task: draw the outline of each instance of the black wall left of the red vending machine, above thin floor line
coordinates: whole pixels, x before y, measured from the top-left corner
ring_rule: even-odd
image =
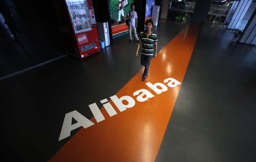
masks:
[[[0,77],[65,55],[49,2],[40,2],[0,1],[0,35],[9,40],[1,42]]]

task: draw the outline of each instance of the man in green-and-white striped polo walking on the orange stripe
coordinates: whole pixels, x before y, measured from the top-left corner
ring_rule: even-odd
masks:
[[[157,53],[157,35],[153,33],[151,30],[154,23],[151,19],[148,19],[145,22],[146,30],[144,32],[140,32],[139,35],[139,42],[137,45],[137,51],[136,56],[138,56],[138,50],[140,49],[140,43],[142,42],[142,48],[141,48],[141,57],[140,57],[140,64],[145,67],[144,73],[142,75],[142,81],[146,80],[146,77],[148,75],[148,68],[151,61],[152,56],[156,58]],[[155,47],[155,53],[154,53],[154,47]],[[153,54],[154,53],[154,54]]]

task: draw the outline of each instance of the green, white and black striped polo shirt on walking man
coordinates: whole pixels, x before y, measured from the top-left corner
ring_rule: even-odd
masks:
[[[142,41],[141,55],[153,56],[153,46],[154,42],[157,42],[157,36],[152,31],[152,34],[147,38],[145,32],[146,30],[144,32],[140,32],[139,35],[139,39]]]

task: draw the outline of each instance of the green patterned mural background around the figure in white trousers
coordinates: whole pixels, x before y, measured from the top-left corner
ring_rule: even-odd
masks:
[[[118,13],[119,13],[118,2],[119,0],[110,0],[110,6],[109,6],[110,15],[112,16],[112,19],[116,19],[116,20],[118,20]],[[131,4],[133,3],[133,0],[122,0],[121,3],[123,4],[123,11],[124,11],[124,15],[120,16],[122,21],[123,16],[126,16],[127,13],[131,10]]]

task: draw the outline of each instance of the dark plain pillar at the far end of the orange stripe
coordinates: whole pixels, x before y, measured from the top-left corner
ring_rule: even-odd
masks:
[[[192,20],[204,22],[209,12],[212,0],[197,0]]]

